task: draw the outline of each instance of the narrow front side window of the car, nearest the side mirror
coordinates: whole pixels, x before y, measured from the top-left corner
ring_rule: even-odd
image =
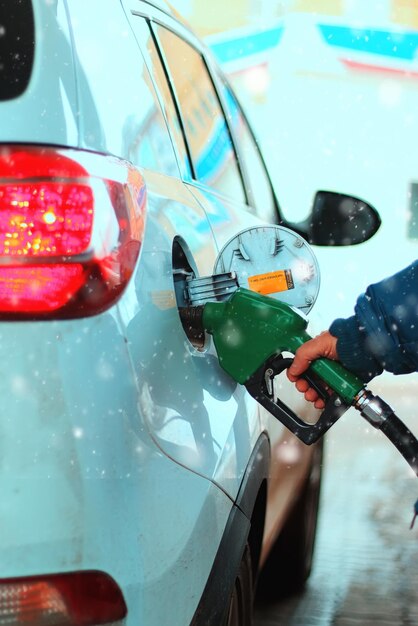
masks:
[[[251,188],[250,198],[255,214],[267,222],[278,222],[277,205],[269,176],[258,145],[229,85],[221,78],[230,127],[236,133],[240,157]]]

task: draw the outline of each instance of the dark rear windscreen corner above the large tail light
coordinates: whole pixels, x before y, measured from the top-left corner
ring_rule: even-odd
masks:
[[[7,7],[6,7],[7,5]],[[20,96],[28,86],[35,53],[31,0],[0,6],[0,100]]]

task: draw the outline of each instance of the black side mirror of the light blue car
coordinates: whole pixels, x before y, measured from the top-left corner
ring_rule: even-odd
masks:
[[[305,227],[309,243],[350,246],[370,239],[380,224],[378,212],[364,200],[333,191],[318,191]]]

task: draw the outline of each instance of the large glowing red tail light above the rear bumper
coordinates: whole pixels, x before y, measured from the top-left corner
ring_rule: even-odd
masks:
[[[111,306],[144,227],[139,172],[78,150],[0,149],[0,317],[68,318]]]

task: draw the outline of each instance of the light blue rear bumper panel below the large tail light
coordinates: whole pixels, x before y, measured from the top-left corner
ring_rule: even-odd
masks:
[[[0,576],[99,569],[127,591],[133,620],[188,623],[232,501],[155,446],[117,311],[3,324],[2,353]],[[185,563],[195,587],[174,606]]]

